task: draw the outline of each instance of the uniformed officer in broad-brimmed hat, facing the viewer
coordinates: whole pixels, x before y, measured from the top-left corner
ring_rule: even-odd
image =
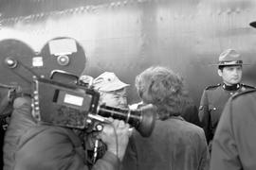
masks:
[[[254,87],[240,83],[244,63],[237,51],[225,50],[220,54],[219,62],[213,65],[218,65],[218,75],[222,77],[223,82],[204,90],[198,113],[210,148],[219,118],[229,97],[234,93],[254,89]]]

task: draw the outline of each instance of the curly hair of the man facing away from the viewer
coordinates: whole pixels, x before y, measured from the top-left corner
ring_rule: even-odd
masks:
[[[143,102],[156,106],[161,120],[180,115],[190,103],[183,78],[166,67],[153,66],[140,73],[136,88]]]

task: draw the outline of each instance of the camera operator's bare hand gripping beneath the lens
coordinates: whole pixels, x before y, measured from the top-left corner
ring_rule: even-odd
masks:
[[[117,155],[121,161],[131,135],[131,130],[129,130],[129,124],[125,124],[123,121],[112,118],[108,120],[112,123],[104,125],[100,138],[107,144],[107,150]]]

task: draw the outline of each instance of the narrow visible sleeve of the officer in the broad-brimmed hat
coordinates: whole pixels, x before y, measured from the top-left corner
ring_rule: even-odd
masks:
[[[203,92],[201,97],[198,117],[205,131],[207,143],[210,143],[210,140],[212,139],[213,135],[210,130],[210,110],[209,110],[208,93],[206,90]]]

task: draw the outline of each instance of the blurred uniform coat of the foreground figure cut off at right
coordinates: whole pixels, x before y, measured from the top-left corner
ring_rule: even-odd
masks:
[[[210,170],[256,169],[256,91],[231,97],[212,141]]]

